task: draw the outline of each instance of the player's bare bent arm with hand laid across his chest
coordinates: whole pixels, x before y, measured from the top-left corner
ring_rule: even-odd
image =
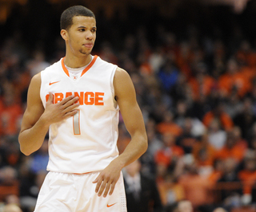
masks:
[[[78,103],[78,97],[69,96],[66,99],[53,104],[53,96],[50,93],[49,100],[46,102],[46,108],[42,105],[40,98],[41,73],[35,75],[27,93],[27,107],[22,118],[21,131],[18,135],[20,149],[24,155],[30,155],[37,151],[45,139],[50,124],[65,120],[74,116],[77,112],[75,108]]]

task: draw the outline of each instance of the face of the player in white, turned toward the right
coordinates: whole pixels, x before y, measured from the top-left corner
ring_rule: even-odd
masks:
[[[68,45],[74,54],[89,55],[96,39],[96,20],[92,17],[75,16],[68,29]]]

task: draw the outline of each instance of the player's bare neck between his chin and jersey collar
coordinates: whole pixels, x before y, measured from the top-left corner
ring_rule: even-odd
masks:
[[[86,55],[84,57],[70,57],[69,55],[66,55],[64,58],[64,64],[70,68],[78,69],[88,65],[91,61],[91,58],[91,55]]]

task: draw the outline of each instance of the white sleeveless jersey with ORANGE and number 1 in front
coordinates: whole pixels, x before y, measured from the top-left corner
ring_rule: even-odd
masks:
[[[40,96],[46,107],[49,92],[54,104],[67,96],[79,96],[78,113],[50,125],[48,171],[86,173],[101,171],[118,156],[118,104],[113,79],[117,65],[94,56],[74,80],[64,58],[41,72]]]

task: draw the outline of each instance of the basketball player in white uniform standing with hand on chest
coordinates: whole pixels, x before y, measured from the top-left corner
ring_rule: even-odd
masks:
[[[72,6],[61,16],[66,57],[35,75],[19,134],[30,155],[49,131],[49,171],[35,212],[126,211],[122,168],[147,148],[134,85],[125,70],[90,53],[96,38],[94,13]],[[118,155],[118,112],[130,132]]]

